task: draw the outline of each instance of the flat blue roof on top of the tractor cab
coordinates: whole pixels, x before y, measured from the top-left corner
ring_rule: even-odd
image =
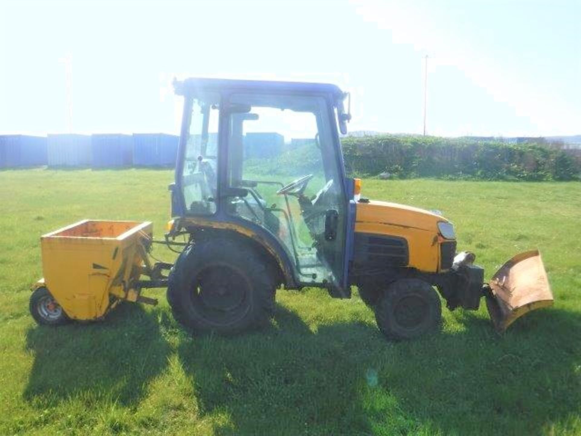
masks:
[[[242,92],[297,92],[304,94],[332,94],[342,98],[343,91],[330,83],[289,82],[274,80],[233,80],[228,78],[191,77],[174,80],[175,94],[187,95],[195,91],[235,90]]]

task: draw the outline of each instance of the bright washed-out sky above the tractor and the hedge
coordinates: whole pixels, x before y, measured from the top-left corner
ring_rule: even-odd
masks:
[[[579,0],[0,0],[0,133],[176,133],[174,76],[336,83],[350,130],[421,133],[427,54],[428,134],[579,134],[580,23]]]

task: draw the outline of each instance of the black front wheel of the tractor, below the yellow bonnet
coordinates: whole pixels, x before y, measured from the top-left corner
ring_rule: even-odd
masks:
[[[417,338],[435,331],[442,319],[442,304],[429,283],[415,278],[394,281],[375,306],[379,330],[393,340]]]

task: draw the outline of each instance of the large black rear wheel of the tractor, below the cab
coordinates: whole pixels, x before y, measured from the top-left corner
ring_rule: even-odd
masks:
[[[167,288],[175,319],[194,333],[236,334],[266,323],[276,290],[267,265],[240,240],[213,238],[188,246]]]

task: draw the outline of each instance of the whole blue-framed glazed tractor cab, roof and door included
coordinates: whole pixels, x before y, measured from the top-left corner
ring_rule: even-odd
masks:
[[[339,88],[191,79],[177,91],[185,110],[173,216],[260,238],[297,285],[348,288],[353,180],[338,140]]]

